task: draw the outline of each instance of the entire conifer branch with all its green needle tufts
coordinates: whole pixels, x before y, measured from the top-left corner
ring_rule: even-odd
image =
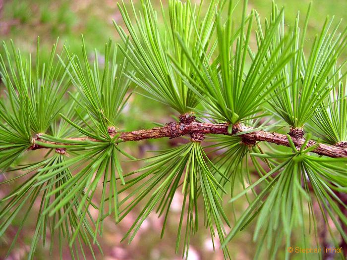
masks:
[[[303,27],[299,13],[287,27],[275,3],[264,22],[256,10],[247,11],[246,0],[169,0],[168,10],[161,3],[158,11],[150,0],[140,4],[140,10],[132,1],[129,8],[118,4],[120,43],[109,40],[103,56],[95,50],[91,57],[83,36],[81,56],[67,46],[57,54],[57,42],[45,64],[39,40],[33,64],[12,42],[3,44],[0,173],[10,177],[0,185],[11,190],[0,198],[0,237],[20,221],[8,253],[32,215],[28,259],[35,259],[40,242],[50,254],[57,248],[60,259],[66,245],[72,259],[97,259],[104,220],[112,216],[118,224],[136,208],[122,240],[130,243],[152,213],[164,219],[163,237],[178,193],[175,252],[184,259],[202,228],[214,249],[231,259],[232,239],[248,226],[258,243],[255,259],[289,259],[286,249],[294,243],[322,246],[318,215],[334,246],[345,245],[343,21],[327,18],[309,44],[311,5]],[[176,111],[176,121],[119,129],[136,87],[136,94]],[[185,144],[147,158],[119,147],[181,136],[189,136]],[[25,162],[23,155],[35,150],[47,153]],[[142,166],[123,173],[126,158]],[[239,212],[234,206],[242,199]]]

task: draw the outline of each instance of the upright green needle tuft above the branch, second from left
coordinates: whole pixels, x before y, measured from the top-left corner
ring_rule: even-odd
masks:
[[[89,119],[95,125],[95,128],[90,127],[90,130],[95,132],[96,135],[102,135],[107,139],[109,138],[108,127],[116,126],[119,113],[130,97],[128,95],[125,99],[130,85],[129,80],[124,76],[124,72],[128,71],[128,62],[123,57],[119,64],[116,63],[117,49],[114,47],[112,52],[112,42],[110,40],[105,45],[103,61],[105,65],[103,73],[100,74],[97,51],[95,50],[93,65],[90,66],[84,39],[82,39],[82,42],[84,68],[79,58],[71,56],[65,48],[71,63],[72,83],[79,93],[78,98],[74,100],[89,115]],[[90,137],[96,136],[90,135]],[[98,138],[96,137],[96,139]]]

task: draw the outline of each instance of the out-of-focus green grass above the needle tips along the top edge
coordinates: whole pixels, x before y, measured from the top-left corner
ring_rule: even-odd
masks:
[[[4,2],[1,11],[0,38],[13,39],[22,51],[34,52],[37,36],[41,37],[43,46],[51,46],[57,37],[60,37],[61,43],[67,41],[71,51],[78,52],[81,45],[80,35],[84,34],[87,43],[102,51],[109,37],[117,38],[112,24],[112,19],[117,22],[121,20],[116,2],[116,0],[8,0]],[[139,0],[134,2],[139,6]],[[153,2],[158,2],[159,10],[159,1]],[[255,8],[264,19],[270,13],[271,2],[272,0],[249,0],[248,8],[249,10]],[[301,20],[304,19],[309,2],[309,0],[276,1],[279,6],[285,7],[289,27],[293,24],[298,10],[302,15]],[[239,20],[240,13],[235,12],[235,21]],[[307,32],[308,41],[313,40],[315,34],[319,32],[326,15],[330,17],[335,15],[336,21],[341,18],[346,19],[347,1],[313,0]]]

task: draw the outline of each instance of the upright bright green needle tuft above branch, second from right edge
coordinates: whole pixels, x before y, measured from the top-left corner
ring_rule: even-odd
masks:
[[[274,112],[285,120],[289,126],[302,128],[314,115],[319,107],[323,109],[322,102],[329,93],[339,84],[342,75],[339,75],[341,67],[337,65],[347,44],[347,27],[341,34],[335,37],[341,21],[332,27],[333,19],[326,19],[322,31],[314,38],[311,51],[306,58],[303,48],[305,47],[305,35],[308,25],[310,6],[307,11],[305,25],[300,33],[299,14],[297,14],[294,28],[291,33],[290,51],[295,52],[291,60],[283,67],[279,76],[283,79],[282,84],[274,89],[273,99],[269,104]],[[276,5],[273,5],[273,11],[270,21],[275,21],[279,13]],[[267,26],[268,27],[268,26]],[[266,27],[266,30],[268,30]],[[258,23],[259,31],[261,26]],[[282,19],[272,38],[272,48],[270,53],[277,52],[281,39],[285,37],[285,21]],[[262,33],[257,37],[258,45],[266,39]],[[287,53],[288,50],[281,48],[281,53]],[[267,57],[271,58],[270,54]],[[276,84],[273,82],[272,84]]]

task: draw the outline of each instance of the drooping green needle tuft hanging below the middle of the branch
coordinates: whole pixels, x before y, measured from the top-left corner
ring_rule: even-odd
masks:
[[[181,241],[182,223],[185,215],[186,227],[185,232],[183,232],[183,257],[187,256],[191,234],[196,233],[198,230],[199,219],[201,219],[198,209],[199,197],[202,197],[204,202],[204,222],[210,228],[212,240],[216,235],[214,229],[214,226],[216,226],[219,239],[223,241],[226,234],[223,224],[224,222],[229,226],[230,224],[223,211],[221,205],[222,197],[217,189],[222,190],[223,193],[226,193],[226,191],[212,174],[212,171],[217,171],[215,175],[227,181],[228,179],[208,159],[201,144],[190,142],[177,148],[162,151],[159,155],[147,158],[145,161],[149,163],[147,166],[128,175],[131,176],[136,172],[144,171],[144,173],[126,181],[126,186],[122,191],[128,190],[135,185],[138,187],[135,192],[130,193],[120,202],[120,204],[126,205],[122,210],[123,215],[121,218],[139,204],[146,195],[152,194],[124,239],[130,234],[130,241],[134,238],[142,222],[156,206],[159,215],[165,214],[162,229],[163,236],[173,196],[177,190],[181,190],[183,204],[177,231],[176,253]],[[188,205],[186,206],[186,204]],[[226,248],[224,249],[224,255],[226,258],[230,257]]]

